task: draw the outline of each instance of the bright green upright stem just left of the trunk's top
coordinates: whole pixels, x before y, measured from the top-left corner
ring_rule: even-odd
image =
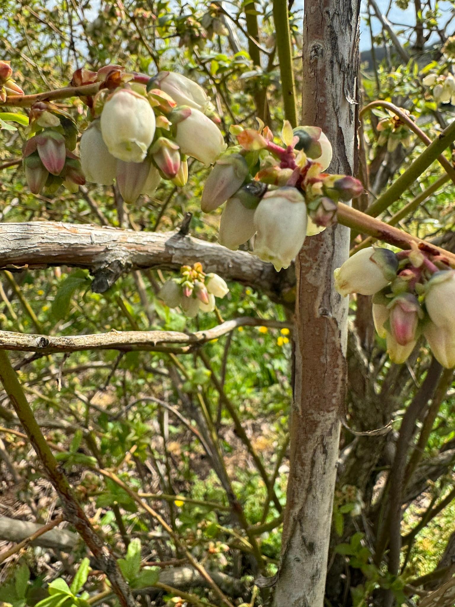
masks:
[[[292,66],[291,31],[289,30],[287,0],[273,0],[275,36],[277,38],[278,59],[280,61],[281,89],[285,118],[292,128],[297,126],[297,109],[295,106],[294,69]]]

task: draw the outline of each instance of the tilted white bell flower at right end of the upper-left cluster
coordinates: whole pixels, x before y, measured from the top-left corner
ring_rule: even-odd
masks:
[[[227,147],[223,135],[202,112],[194,108],[190,108],[190,112],[187,118],[177,123],[175,141],[182,154],[192,156],[203,164],[213,164]]]

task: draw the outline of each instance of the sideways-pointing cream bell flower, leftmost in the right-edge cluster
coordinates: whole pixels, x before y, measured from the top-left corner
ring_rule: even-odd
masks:
[[[357,251],[334,271],[335,289],[342,296],[374,295],[396,277],[397,269],[398,259],[393,251],[369,246]]]

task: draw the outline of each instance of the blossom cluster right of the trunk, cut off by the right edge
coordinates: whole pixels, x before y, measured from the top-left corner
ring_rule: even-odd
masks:
[[[455,366],[455,270],[443,256],[413,248],[360,249],[335,270],[343,295],[372,295],[376,331],[401,364],[423,334],[443,367]]]

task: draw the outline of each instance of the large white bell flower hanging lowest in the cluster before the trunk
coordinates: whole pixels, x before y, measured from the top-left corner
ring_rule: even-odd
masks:
[[[277,272],[288,268],[306,236],[305,198],[296,188],[266,192],[254,213],[255,256],[273,263]]]

